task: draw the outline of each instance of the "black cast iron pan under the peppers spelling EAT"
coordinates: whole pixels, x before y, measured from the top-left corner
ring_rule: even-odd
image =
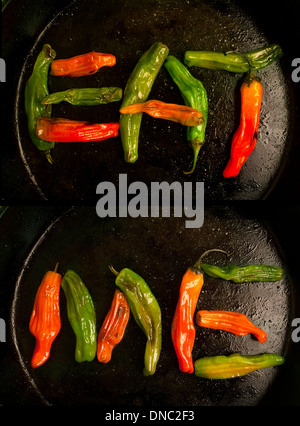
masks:
[[[185,140],[185,129],[177,124],[144,116],[140,133],[139,159],[126,164],[120,137],[101,143],[59,145],[53,153],[50,166],[32,145],[24,111],[24,87],[37,54],[44,43],[56,51],[57,58],[70,57],[91,50],[111,52],[117,57],[113,68],[102,69],[93,76],[81,78],[49,78],[50,91],[70,87],[97,87],[114,85],[125,87],[127,79],[141,54],[155,41],[168,45],[170,54],[183,60],[186,50],[248,51],[271,43],[286,48],[282,39],[284,30],[276,35],[261,28],[255,14],[241,2],[230,0],[88,0],[40,2],[24,6],[12,0],[4,11],[3,45],[9,64],[15,72],[11,77],[15,130],[9,134],[13,150],[4,168],[6,188],[11,185],[14,165],[22,162],[24,179],[33,189],[29,199],[94,201],[99,182],[109,180],[118,184],[119,174],[128,175],[128,183],[143,181],[203,181],[208,200],[261,199],[274,188],[281,175],[293,141],[295,106],[287,55],[259,72],[264,87],[259,141],[237,178],[225,180],[222,171],[228,161],[231,139],[239,123],[241,76],[211,70],[191,68],[191,72],[205,85],[209,98],[209,117],[206,143],[193,175],[184,175],[192,163],[192,151]],[[64,6],[66,6],[64,8]],[[261,5],[260,5],[261,7]],[[251,8],[250,8],[251,9]],[[18,28],[9,22],[16,20],[18,10],[21,23]],[[32,18],[29,18],[29,14]],[[254,14],[254,16],[253,16]],[[32,19],[32,21],[31,21]],[[267,21],[263,23],[265,27]],[[11,29],[10,29],[11,28]],[[17,35],[14,35],[14,31]],[[20,37],[25,37],[20,41]],[[18,50],[14,50],[14,45]],[[20,64],[20,69],[16,64]],[[287,66],[289,68],[287,68]],[[149,98],[182,103],[177,87],[167,71],[162,69]],[[71,107],[56,105],[53,116],[91,122],[118,121],[119,104],[99,107]],[[8,121],[10,123],[10,121]],[[16,166],[17,167],[17,166]],[[24,169],[25,167],[25,169]],[[24,185],[24,184],[23,184]],[[26,185],[25,185],[26,186]],[[28,189],[20,189],[21,199]],[[16,191],[16,185],[13,186]],[[11,199],[7,190],[5,199]]]

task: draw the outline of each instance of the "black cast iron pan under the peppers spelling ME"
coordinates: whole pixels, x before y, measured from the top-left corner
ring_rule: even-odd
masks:
[[[39,223],[38,217],[36,223]],[[30,229],[28,233],[30,235]],[[181,277],[187,267],[211,248],[228,251],[230,260],[236,264],[282,266],[284,278],[276,283],[237,285],[205,277],[197,308],[243,312],[266,330],[268,340],[262,345],[250,335],[236,337],[197,327],[194,359],[234,352],[248,355],[273,352],[286,356],[291,318],[295,315],[293,288],[281,248],[263,222],[245,218],[234,209],[218,207],[206,210],[202,228],[185,229],[184,221],[178,218],[100,220],[94,209],[77,207],[52,218],[43,231],[36,233],[15,285],[12,339],[22,373],[39,400],[43,404],[64,406],[258,404],[280,376],[280,368],[224,381],[199,379],[178,369],[170,325]],[[226,259],[222,256],[216,253],[206,260],[223,264]],[[62,274],[71,268],[82,276],[94,300],[97,330],[116,288],[108,265],[116,269],[129,267],[144,277],[156,295],[163,318],[163,345],[155,375],[144,377],[142,374],[145,337],[132,317],[109,364],[102,365],[97,359],[76,363],[75,340],[67,320],[63,292],[60,297],[62,328],[51,356],[42,367],[31,368],[35,340],[28,330],[28,322],[40,281],[56,262]]]

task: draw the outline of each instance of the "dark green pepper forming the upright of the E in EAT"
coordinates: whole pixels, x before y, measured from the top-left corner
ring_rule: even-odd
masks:
[[[56,56],[56,52],[49,44],[44,44],[39,53],[32,74],[25,86],[25,111],[27,114],[28,130],[34,145],[45,153],[46,158],[52,163],[50,151],[54,148],[54,142],[39,139],[36,135],[37,119],[51,117],[52,106],[43,105],[42,100],[49,94],[48,74],[49,68]]]

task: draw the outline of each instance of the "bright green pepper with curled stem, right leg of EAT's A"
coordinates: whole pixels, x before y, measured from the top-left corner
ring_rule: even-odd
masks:
[[[200,80],[191,75],[186,67],[174,56],[169,55],[164,64],[165,68],[178,86],[185,105],[202,112],[204,122],[199,126],[187,128],[187,140],[194,151],[194,161],[192,169],[186,174],[195,170],[200,148],[204,144],[205,129],[208,117],[207,92]]]

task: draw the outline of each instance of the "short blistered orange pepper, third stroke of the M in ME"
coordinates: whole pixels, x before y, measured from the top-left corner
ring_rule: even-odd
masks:
[[[129,320],[130,307],[126,296],[116,290],[111,307],[98,334],[97,358],[107,364],[111,360],[114,347],[121,342]]]

